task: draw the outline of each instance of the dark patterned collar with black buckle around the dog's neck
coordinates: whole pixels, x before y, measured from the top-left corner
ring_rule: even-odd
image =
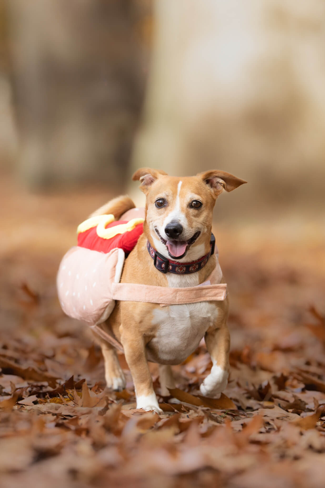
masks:
[[[165,258],[165,256],[156,251],[150,242],[147,241],[147,249],[150,256],[153,258],[153,265],[162,273],[167,273],[167,271],[175,274],[195,273],[208,263],[210,256],[214,254],[214,247],[215,237],[211,234],[210,251],[208,254],[205,254],[205,256],[202,256],[202,258],[197,259],[196,261],[191,261],[191,263],[179,263],[178,261],[172,261],[171,259]]]

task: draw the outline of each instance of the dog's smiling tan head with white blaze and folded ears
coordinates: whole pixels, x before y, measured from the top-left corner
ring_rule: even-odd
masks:
[[[177,178],[141,168],[132,179],[140,180],[146,195],[144,232],[160,254],[176,261],[194,261],[208,252],[216,198],[247,183],[219,170]]]

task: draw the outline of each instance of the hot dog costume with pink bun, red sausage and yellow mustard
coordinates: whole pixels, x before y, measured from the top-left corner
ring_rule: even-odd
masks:
[[[130,218],[132,217],[132,218]],[[97,334],[120,350],[123,347],[112,334],[98,324],[112,313],[115,300],[150,302],[160,306],[225,300],[227,285],[221,284],[222,272],[215,252],[216,266],[208,280],[198,286],[171,288],[165,286],[120,283],[123,264],[143,233],[144,209],[132,209],[115,221],[113,215],[99,215],[82,222],[77,228],[77,246],[63,257],[57,273],[57,294],[62,310],[78,320],[87,322]],[[184,265],[165,259],[149,245],[154,265],[162,272],[184,273]],[[197,269],[205,262],[186,263]],[[179,271],[177,271],[179,269]]]

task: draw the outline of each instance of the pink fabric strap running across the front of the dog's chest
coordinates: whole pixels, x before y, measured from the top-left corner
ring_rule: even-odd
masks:
[[[112,283],[111,293],[112,298],[119,301],[148,302],[162,306],[181,305],[225,300],[227,285],[221,283],[218,285],[169,288],[167,286],[133,283]]]

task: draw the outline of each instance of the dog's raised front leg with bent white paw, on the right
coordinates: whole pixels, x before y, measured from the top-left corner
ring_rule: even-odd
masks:
[[[227,325],[212,329],[205,335],[205,342],[213,366],[210,374],[200,386],[202,395],[219,398],[226,388],[229,377],[230,335]]]

